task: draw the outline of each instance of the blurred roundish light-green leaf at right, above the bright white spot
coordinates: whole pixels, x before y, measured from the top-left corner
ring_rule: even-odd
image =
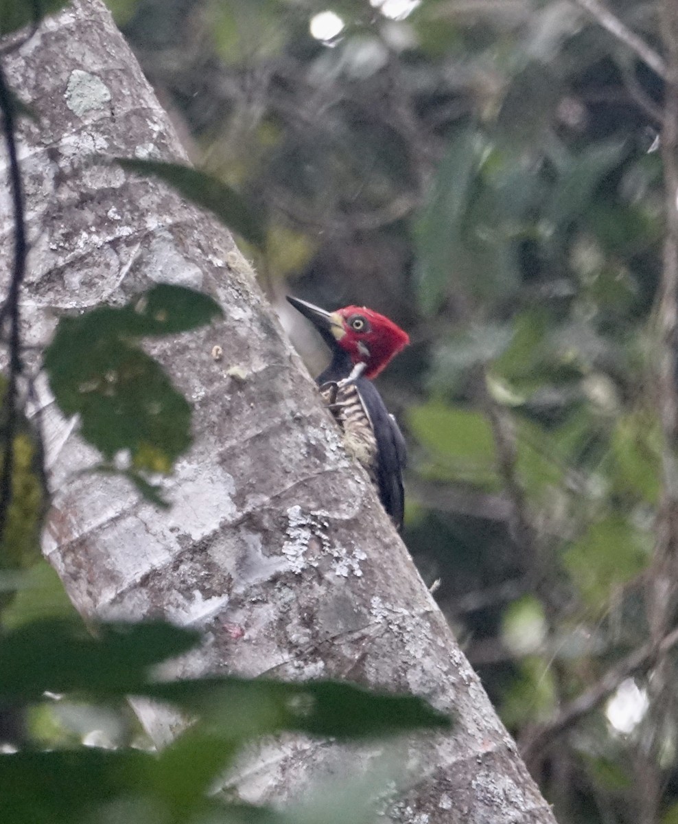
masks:
[[[650,536],[618,513],[591,524],[563,554],[565,569],[587,603],[606,610],[610,591],[643,572],[651,557]]]

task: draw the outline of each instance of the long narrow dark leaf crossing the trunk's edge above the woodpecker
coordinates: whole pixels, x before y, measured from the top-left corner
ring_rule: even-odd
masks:
[[[192,203],[213,213],[245,241],[257,248],[264,246],[264,231],[260,220],[240,194],[216,177],[178,163],[137,160],[131,157],[117,157],[115,162],[127,171],[163,180]]]

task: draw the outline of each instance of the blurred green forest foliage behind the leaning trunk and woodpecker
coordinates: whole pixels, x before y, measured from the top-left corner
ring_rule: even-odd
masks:
[[[664,87],[584,5],[110,2],[193,161],[257,216],[243,248],[311,369],[286,293],[409,331],[379,378],[404,538],[559,822],[675,824],[676,616],[660,640],[648,618]],[[607,8],[662,52],[656,2]],[[106,713],[31,734],[138,734]]]

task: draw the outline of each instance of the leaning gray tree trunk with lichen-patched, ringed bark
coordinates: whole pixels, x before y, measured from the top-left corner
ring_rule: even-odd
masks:
[[[41,118],[21,125],[26,343],[43,346],[63,311],[121,304],[160,280],[203,289],[225,312],[152,347],[194,404],[194,447],[166,482],[169,512],[124,480],[78,474],[96,454],[43,383],[54,489],[44,551],[77,609],[201,627],[206,642],[183,672],[340,677],[424,695],[456,714],[456,729],[403,745],[415,767],[393,820],[552,822],[231,237],[157,182],[91,164],[93,154],[185,160],[100,0],[74,2],[5,60]],[[166,719],[146,721],[166,737]],[[297,797],[342,758],[328,742],[267,745],[241,796]],[[371,751],[351,758],[367,763]]]

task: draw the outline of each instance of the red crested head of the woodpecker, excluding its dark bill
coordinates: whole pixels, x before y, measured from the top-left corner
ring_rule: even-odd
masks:
[[[366,307],[344,307],[334,312],[341,326],[333,329],[337,344],[353,363],[366,365],[365,377],[376,377],[409,344],[409,335],[393,321]],[[343,330],[343,333],[340,331]]]

